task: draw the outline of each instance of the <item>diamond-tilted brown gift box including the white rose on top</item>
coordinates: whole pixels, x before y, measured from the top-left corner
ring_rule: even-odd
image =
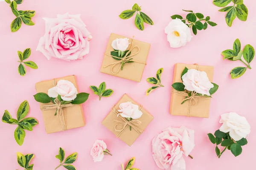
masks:
[[[133,108],[133,113],[128,111],[129,107]],[[125,111],[131,116],[126,117]],[[131,146],[153,119],[154,117],[142,105],[124,94],[102,121],[102,125]]]

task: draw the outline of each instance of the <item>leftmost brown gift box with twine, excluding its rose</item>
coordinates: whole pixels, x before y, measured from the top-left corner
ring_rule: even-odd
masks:
[[[48,90],[55,87],[59,80],[67,80],[73,83],[73,85],[77,89],[76,77],[75,75],[73,75],[62,77],[59,79],[38,82],[35,84],[36,91],[38,92],[38,94],[44,94],[46,96]],[[81,104],[72,104],[70,103],[71,101],[59,101],[57,100],[58,97],[56,97],[56,99],[51,99],[51,103],[45,103],[44,101],[44,103],[42,103],[41,101],[39,101],[41,102],[40,106],[44,119],[45,130],[47,133],[59,132],[63,130],[73,129],[76,127],[82,127],[85,125],[84,112]]]

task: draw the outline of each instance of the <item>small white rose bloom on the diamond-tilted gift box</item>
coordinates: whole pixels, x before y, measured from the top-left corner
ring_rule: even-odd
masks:
[[[134,105],[131,102],[121,103],[119,105],[120,110],[118,110],[122,117],[124,118],[132,118],[139,119],[142,116],[142,111],[139,110],[138,105]]]

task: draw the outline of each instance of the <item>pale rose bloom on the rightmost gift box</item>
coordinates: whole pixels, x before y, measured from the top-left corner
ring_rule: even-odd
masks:
[[[199,94],[206,94],[210,96],[209,90],[213,88],[213,84],[209,81],[206,72],[189,69],[186,74],[182,76],[185,89],[188,91],[195,91]]]

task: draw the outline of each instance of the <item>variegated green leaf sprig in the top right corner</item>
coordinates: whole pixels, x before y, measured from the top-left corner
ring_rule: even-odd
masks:
[[[233,6],[227,6],[231,1]],[[221,8],[219,11],[227,12],[226,23],[228,26],[232,26],[233,20],[238,17],[241,21],[246,21],[248,16],[248,9],[244,5],[244,0],[213,0],[213,4]],[[226,7],[225,7],[226,6]]]

